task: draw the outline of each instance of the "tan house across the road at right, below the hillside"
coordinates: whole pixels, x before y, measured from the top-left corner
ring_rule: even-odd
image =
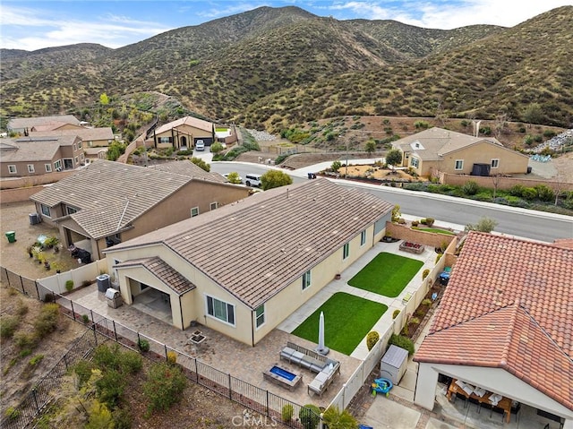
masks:
[[[493,176],[527,173],[529,158],[509,150],[493,137],[474,137],[434,127],[392,142],[402,151],[402,167],[419,176],[432,172]]]

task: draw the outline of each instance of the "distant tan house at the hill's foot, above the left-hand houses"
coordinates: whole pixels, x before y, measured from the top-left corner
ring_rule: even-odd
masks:
[[[153,146],[158,149],[192,148],[198,140],[202,140],[205,146],[210,146],[214,136],[215,129],[213,124],[193,116],[185,116],[155,128],[153,131]]]

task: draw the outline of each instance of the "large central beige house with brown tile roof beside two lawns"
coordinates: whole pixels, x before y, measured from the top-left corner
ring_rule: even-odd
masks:
[[[384,236],[392,205],[326,179],[256,193],[107,249],[124,302],[254,346]]]

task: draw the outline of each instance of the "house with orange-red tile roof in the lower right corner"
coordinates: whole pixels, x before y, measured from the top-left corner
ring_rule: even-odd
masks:
[[[415,353],[415,403],[434,407],[441,373],[571,428],[572,352],[573,249],[472,232]]]

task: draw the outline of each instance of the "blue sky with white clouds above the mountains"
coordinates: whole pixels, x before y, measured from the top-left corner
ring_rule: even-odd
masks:
[[[395,20],[449,30],[472,24],[512,27],[566,4],[573,0],[0,0],[0,47],[35,50],[84,42],[123,47],[260,6],[295,5],[338,20]]]

